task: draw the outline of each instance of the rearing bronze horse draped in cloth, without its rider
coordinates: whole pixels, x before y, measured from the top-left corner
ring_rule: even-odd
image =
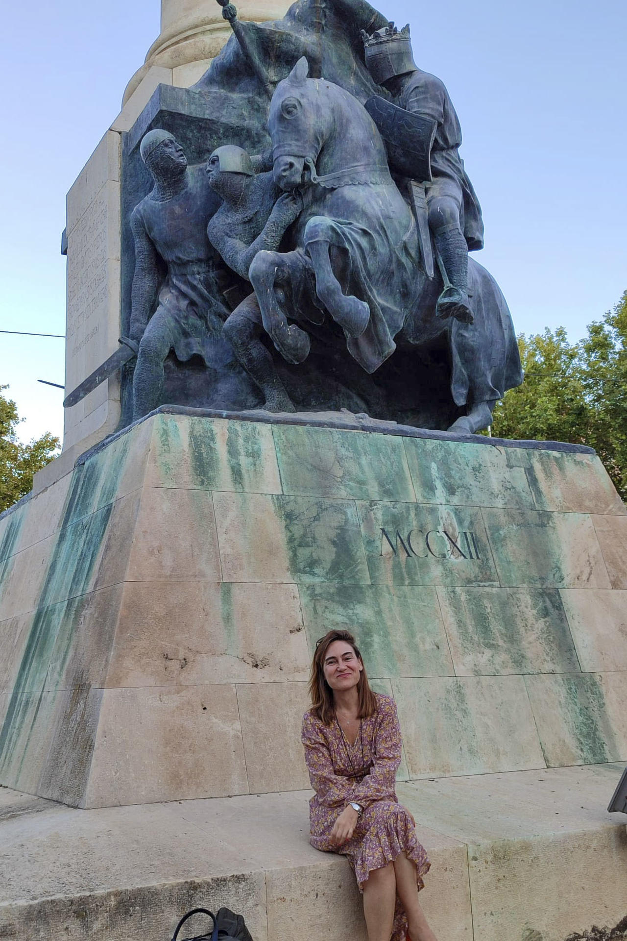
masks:
[[[522,381],[509,309],[492,276],[472,259],[473,324],[436,317],[443,284],[419,265],[415,218],[394,183],[384,141],[348,91],[308,78],[306,58],[278,84],[268,128],[274,181],[300,188],[304,208],[293,250],[260,251],[249,277],[263,327],[291,363],[306,359],[305,325],[325,313],[343,327],[353,358],[373,373],[397,344],[446,338],[451,395],[467,414],[453,431],[486,427],[494,402]]]

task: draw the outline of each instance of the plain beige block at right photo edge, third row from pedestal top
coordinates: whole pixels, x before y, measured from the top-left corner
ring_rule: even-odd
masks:
[[[560,594],[582,670],[627,670],[627,591]]]

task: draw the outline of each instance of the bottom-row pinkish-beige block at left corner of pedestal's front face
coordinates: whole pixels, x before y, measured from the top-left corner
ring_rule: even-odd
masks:
[[[247,793],[235,687],[105,690],[83,806]]]

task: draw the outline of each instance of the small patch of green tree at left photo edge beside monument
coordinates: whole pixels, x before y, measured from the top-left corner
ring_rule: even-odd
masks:
[[[45,467],[59,446],[59,439],[49,432],[30,444],[23,444],[17,436],[21,421],[17,406],[5,398],[0,386],[0,512],[24,497],[33,486],[33,474]]]

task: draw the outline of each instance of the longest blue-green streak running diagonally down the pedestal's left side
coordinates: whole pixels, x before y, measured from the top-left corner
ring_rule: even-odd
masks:
[[[74,471],[61,529],[0,730],[0,770],[5,774],[11,770],[16,787],[49,685],[51,662],[61,674],[71,649],[75,619],[66,605],[57,602],[78,598],[91,588],[126,454],[125,446],[107,449]],[[93,512],[98,503],[104,505]],[[14,767],[16,757],[19,761]]]

